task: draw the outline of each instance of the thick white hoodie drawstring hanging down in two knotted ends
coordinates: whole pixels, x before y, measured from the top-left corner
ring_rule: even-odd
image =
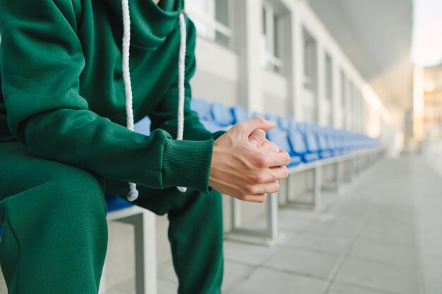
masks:
[[[132,84],[131,73],[129,70],[129,49],[131,44],[131,14],[129,12],[129,0],[121,0],[123,10],[123,48],[122,48],[122,64],[123,64],[123,80],[124,92],[126,94],[126,123],[129,130],[133,130],[133,102],[132,102]],[[179,45],[179,61],[178,61],[178,130],[177,140],[183,140],[184,134],[184,73],[186,70],[186,21],[184,11],[179,13],[179,28],[181,34],[181,42]],[[186,187],[177,187],[180,192],[186,192]],[[129,194],[127,200],[135,201],[138,198],[138,190],[135,183],[129,183]]]

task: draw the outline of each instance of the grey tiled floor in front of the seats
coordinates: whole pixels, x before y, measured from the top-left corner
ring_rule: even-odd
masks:
[[[275,247],[226,241],[223,293],[442,293],[442,178],[421,160],[386,159],[323,202],[280,209]],[[169,262],[158,277],[159,294],[177,293]]]

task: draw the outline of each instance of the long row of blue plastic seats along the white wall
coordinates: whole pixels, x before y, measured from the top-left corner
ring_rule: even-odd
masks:
[[[229,108],[218,102],[210,104],[203,99],[194,98],[191,100],[191,109],[198,113],[201,123],[212,132],[227,129],[254,116],[275,121],[275,128],[267,132],[268,140],[290,154],[290,166],[380,145],[379,140],[363,134],[336,130],[315,123],[299,123],[287,116],[256,113],[249,116],[248,111],[242,106]]]

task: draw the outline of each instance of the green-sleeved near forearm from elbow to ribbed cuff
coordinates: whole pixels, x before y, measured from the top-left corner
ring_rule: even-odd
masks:
[[[208,189],[213,140],[178,142],[164,130],[145,136],[78,109],[31,118],[24,133],[35,157],[150,188],[181,185],[202,192]],[[187,173],[193,178],[186,177]]]

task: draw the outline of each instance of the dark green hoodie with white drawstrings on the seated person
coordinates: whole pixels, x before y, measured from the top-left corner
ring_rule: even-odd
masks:
[[[120,0],[0,0],[0,144],[149,188],[208,192],[214,138],[190,110],[195,27],[186,18],[184,141],[177,135],[184,0],[130,0],[135,121],[126,125]],[[129,189],[128,189],[129,190]]]

